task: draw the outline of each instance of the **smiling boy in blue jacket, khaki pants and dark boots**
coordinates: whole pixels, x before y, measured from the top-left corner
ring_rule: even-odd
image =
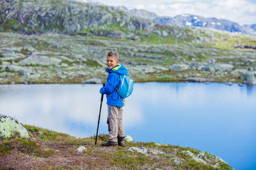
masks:
[[[121,82],[119,74],[127,75],[125,66],[118,65],[119,56],[117,52],[110,51],[106,56],[106,71],[109,73],[106,86],[100,89],[105,94],[108,104],[109,141],[102,143],[102,146],[123,146],[125,147],[125,132],[123,131],[123,105],[125,99],[119,96],[117,88]]]

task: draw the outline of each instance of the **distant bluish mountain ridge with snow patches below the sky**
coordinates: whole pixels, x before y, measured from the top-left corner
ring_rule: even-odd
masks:
[[[158,16],[153,12],[146,10],[128,10],[127,8],[120,6],[117,7],[119,10],[123,10],[133,16],[151,20],[154,23],[179,26],[179,27],[202,27],[202,28],[213,28],[222,31],[235,32],[244,35],[256,36],[256,29],[254,25],[239,25],[234,22],[230,22],[225,19],[217,18],[204,18],[196,15],[177,15],[175,17],[170,16]]]

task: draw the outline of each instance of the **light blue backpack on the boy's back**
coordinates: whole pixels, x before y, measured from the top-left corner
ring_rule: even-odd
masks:
[[[128,75],[119,74],[119,77],[121,79],[121,82],[118,88],[115,88],[115,90],[117,90],[118,95],[120,95],[121,97],[129,97],[133,92],[134,80],[131,79]]]

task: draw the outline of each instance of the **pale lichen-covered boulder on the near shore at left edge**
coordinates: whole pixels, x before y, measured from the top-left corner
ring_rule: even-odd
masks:
[[[18,120],[0,114],[0,137],[10,137],[12,131],[19,131],[20,136],[28,138],[27,130]]]

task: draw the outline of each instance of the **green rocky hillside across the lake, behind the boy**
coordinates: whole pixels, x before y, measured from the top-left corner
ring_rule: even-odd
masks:
[[[156,24],[94,3],[0,5],[0,84],[101,82],[108,50],[135,82],[256,84],[253,36]]]

